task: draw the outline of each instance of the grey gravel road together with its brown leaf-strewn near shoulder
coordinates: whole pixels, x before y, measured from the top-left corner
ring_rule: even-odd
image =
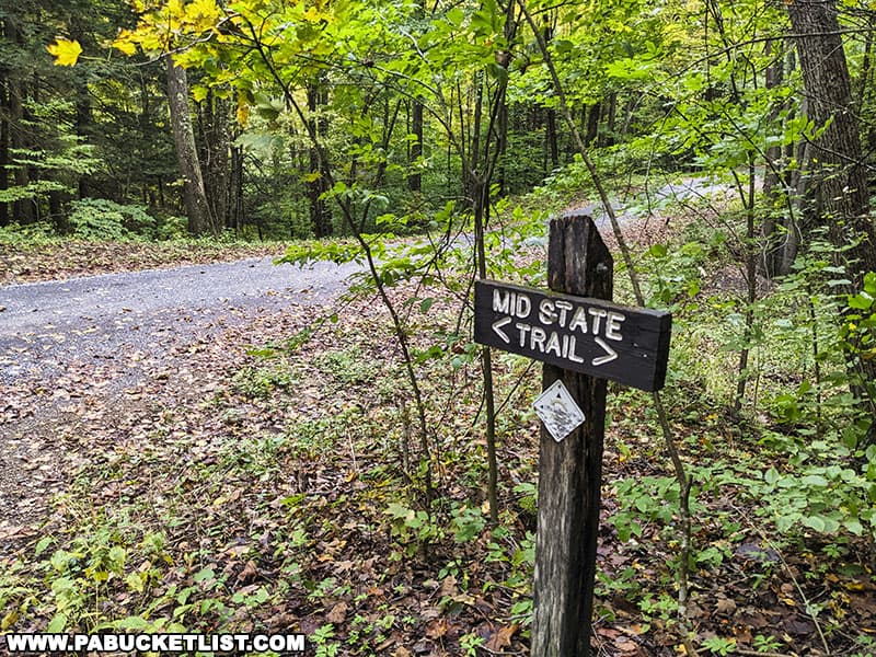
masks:
[[[87,425],[112,440],[131,404],[184,403],[208,376],[198,358],[222,360],[229,334],[307,316],[355,270],[260,258],[0,287],[0,552],[34,534],[94,449]]]

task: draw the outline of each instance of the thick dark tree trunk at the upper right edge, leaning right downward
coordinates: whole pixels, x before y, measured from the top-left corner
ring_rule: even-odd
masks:
[[[823,127],[804,163],[804,217],[828,227],[831,242],[844,249],[852,279],[876,270],[876,229],[867,215],[869,195],[852,84],[834,0],[786,3],[797,44],[807,114]]]

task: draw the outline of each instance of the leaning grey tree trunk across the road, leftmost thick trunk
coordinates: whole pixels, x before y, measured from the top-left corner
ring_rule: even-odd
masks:
[[[201,235],[216,234],[216,222],[204,187],[204,175],[198,160],[195,131],[188,110],[188,81],[185,69],[176,66],[168,55],[168,101],[170,104],[173,140],[183,175],[183,200],[188,217],[188,232]]]

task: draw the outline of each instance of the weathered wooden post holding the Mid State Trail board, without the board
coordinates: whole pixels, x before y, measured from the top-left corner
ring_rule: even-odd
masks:
[[[548,284],[558,292],[611,299],[613,262],[593,220],[551,221]],[[606,430],[606,380],[544,365],[546,389],[562,379],[584,411],[564,440],[541,430],[532,655],[587,657]]]

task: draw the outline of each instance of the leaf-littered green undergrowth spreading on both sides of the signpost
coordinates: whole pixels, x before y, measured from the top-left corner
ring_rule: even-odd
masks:
[[[675,319],[664,401],[693,482],[692,641],[704,655],[871,655],[876,448],[843,380],[835,316],[849,300],[811,293],[840,273],[815,252],[763,290],[735,411],[745,309],[729,262],[719,235],[637,255],[649,303]],[[414,299],[429,457],[373,297],[238,345],[199,404],[95,457],[44,535],[2,562],[2,630],[304,632],[318,655],[526,650],[540,368],[495,355],[492,526],[466,320],[440,289],[393,295]],[[680,650],[680,492],[662,440],[649,395],[610,384],[600,655],[626,641]]]

